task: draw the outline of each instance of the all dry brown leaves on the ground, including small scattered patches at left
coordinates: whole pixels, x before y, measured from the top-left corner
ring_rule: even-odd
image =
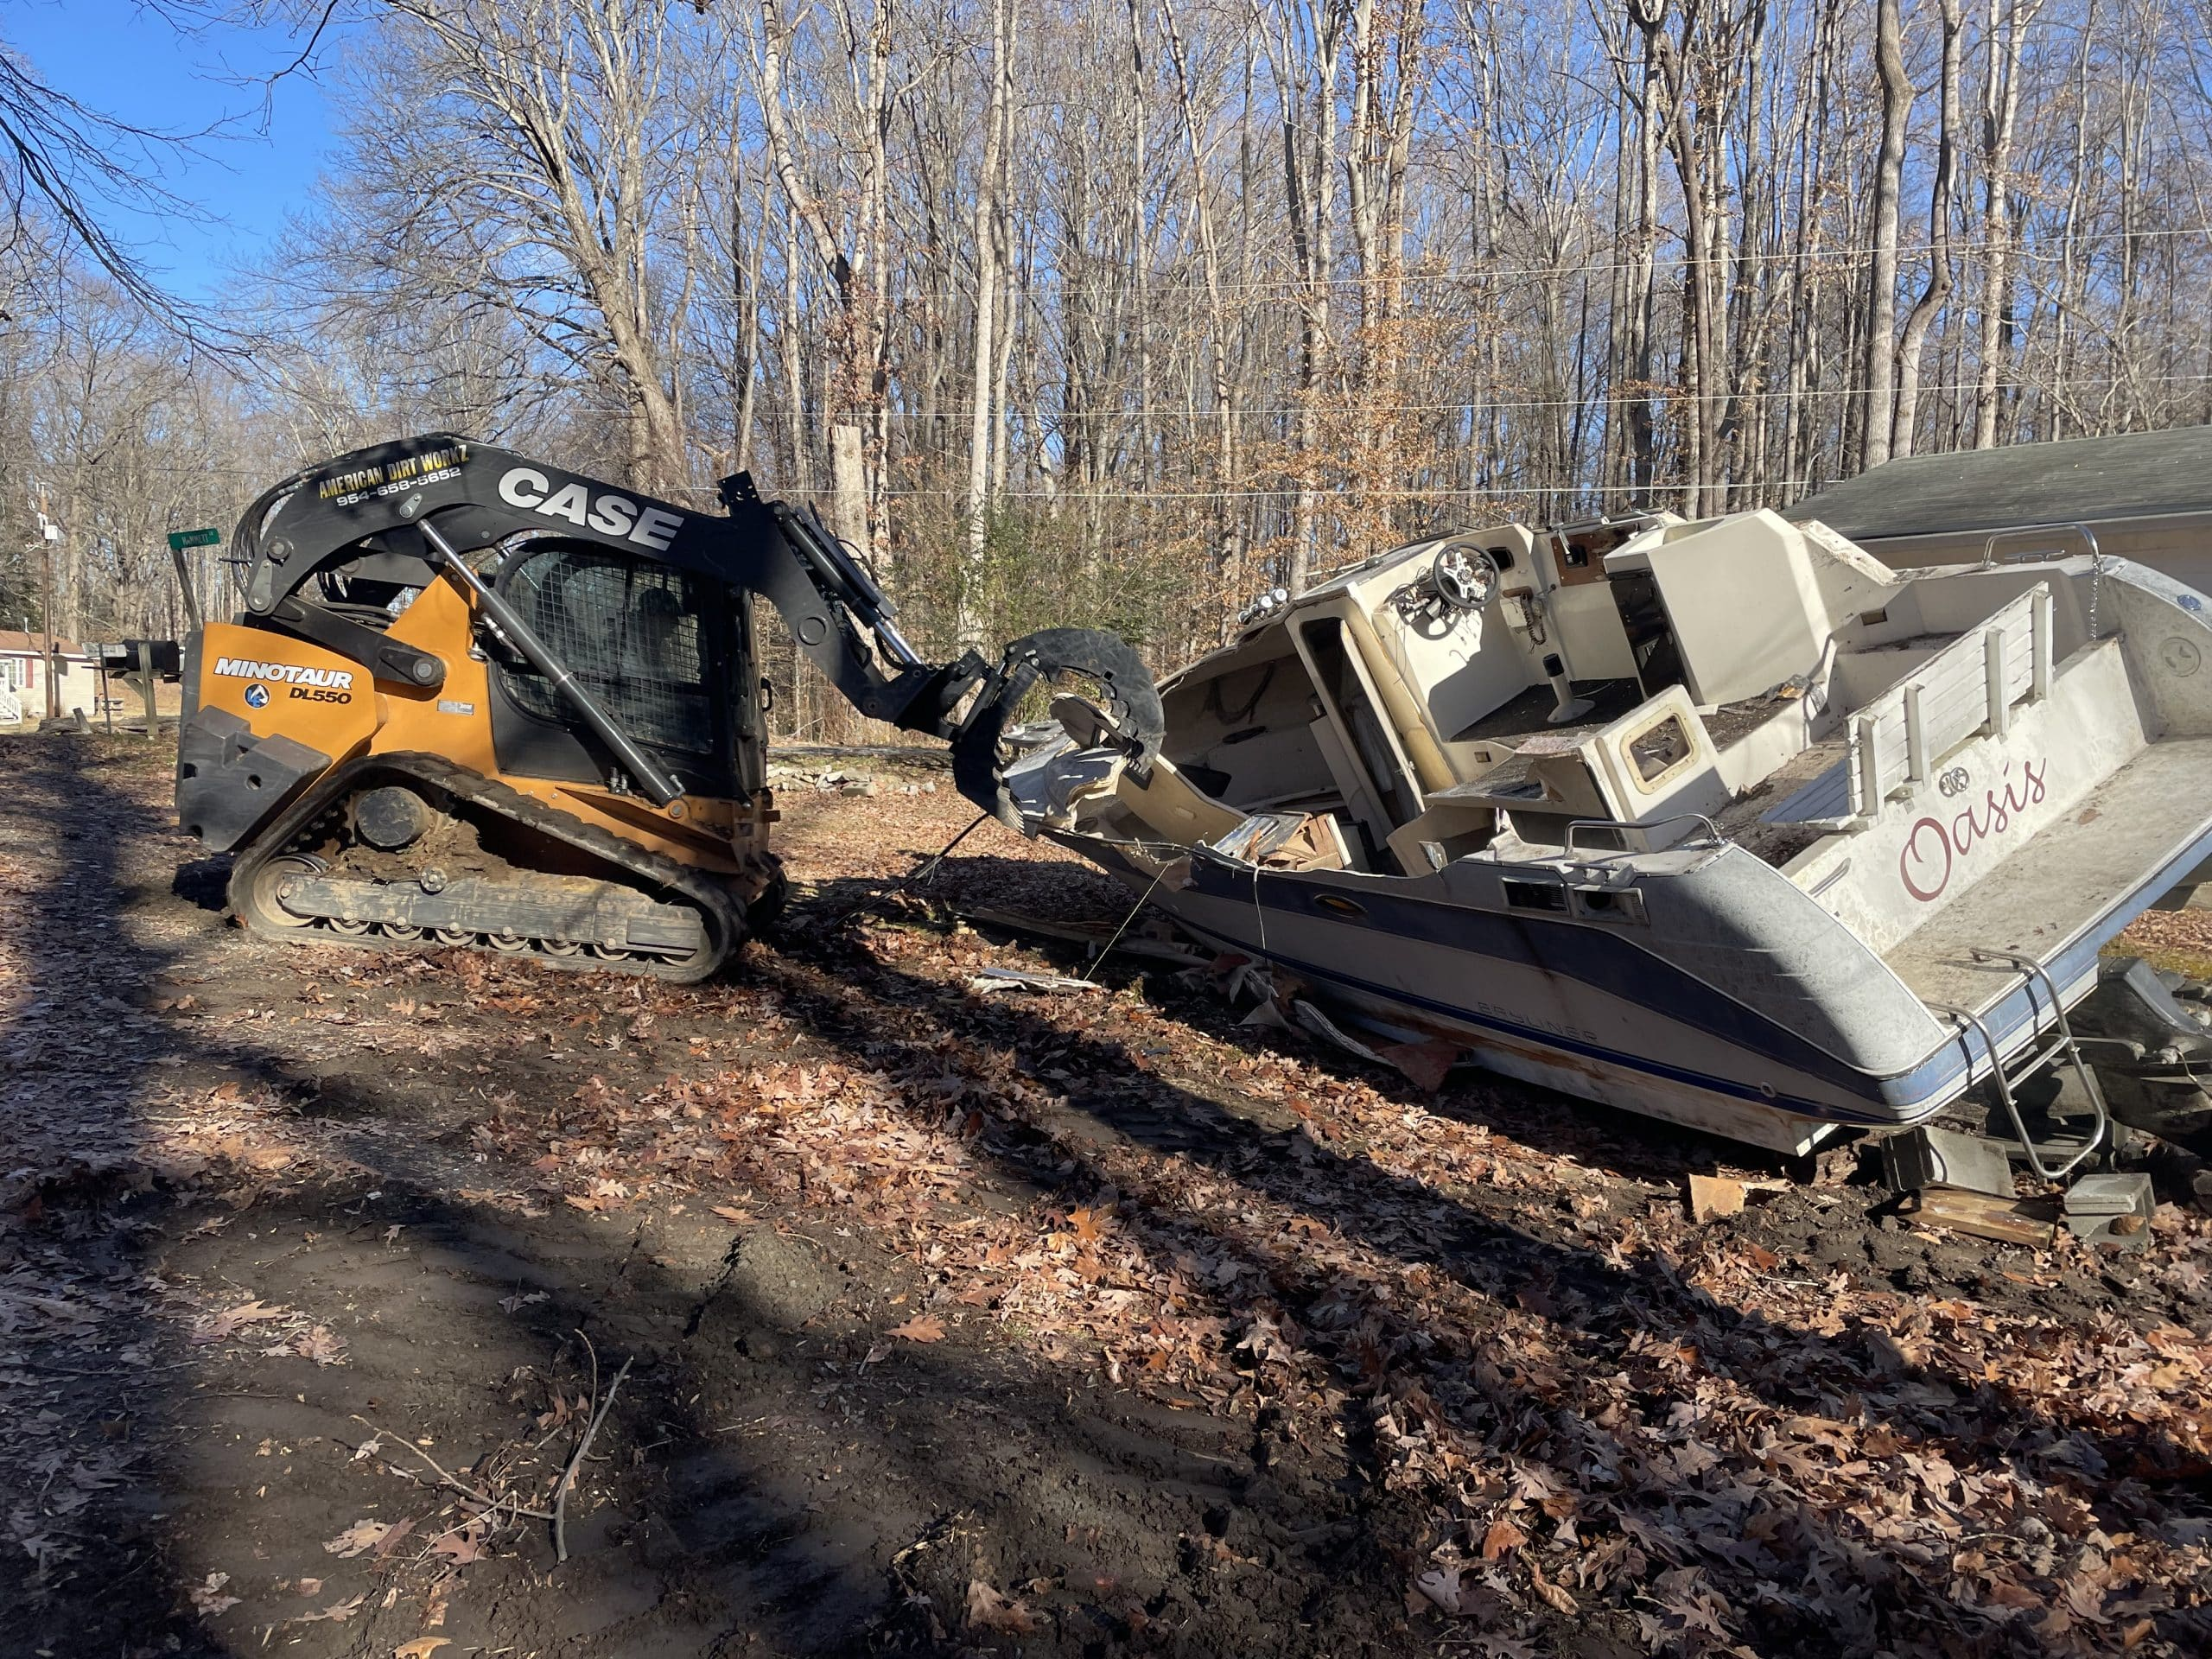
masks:
[[[902,872],[885,852],[900,834],[920,852],[945,838],[942,814],[898,803],[841,823],[814,843],[821,878]],[[1124,914],[1044,860],[978,863],[995,902],[1057,891]],[[9,880],[0,856],[0,916]],[[1237,1029],[1203,973],[1009,1006],[964,991],[993,964],[1055,967],[841,891],[803,900],[783,951],[717,987],[449,956],[316,969],[307,995],[332,1042],[431,1057],[460,1042],[469,1203],[584,1225],[679,1203],[739,1232],[830,1221],[922,1283],[869,1363],[1002,1345],[1254,1436],[1358,1449],[1429,1517],[1402,1564],[1409,1604],[1491,1652],[1573,1646],[1590,1621],[1681,1655],[2185,1652],[2212,1635],[2203,1217],[2161,1210],[2132,1281],[2062,1239],[1913,1290],[1763,1243],[1752,1212],[1692,1225],[1674,1172],[1639,1175],[1679,1152],[1666,1130],[1632,1130],[1644,1150],[1621,1155],[1557,1133],[1577,1108],[1520,1091],[1416,1095]],[[22,1004],[7,973],[0,956],[0,995]],[[425,1029],[453,1004],[480,1024]],[[502,1086],[518,1055],[566,1062],[568,1082]],[[341,1168],[345,1137],[376,1133],[175,1084],[119,1168],[252,1192]],[[1876,1225],[1865,1194],[1834,1206],[1827,1230]],[[2141,1312],[2126,1283],[2188,1318]],[[204,1347],[268,1332],[321,1360],[334,1343],[250,1292],[161,1294]],[[11,1270],[0,1336],[84,1305]],[[33,1520],[15,1515],[15,1542],[62,1548]],[[425,1553],[458,1562],[478,1520],[462,1504]],[[327,1548],[385,1548],[383,1526]],[[1201,1551],[1234,1571],[1219,1540]],[[199,1593],[221,1601],[223,1584]],[[1035,1619],[982,1579],[960,1617],[998,1637]]]

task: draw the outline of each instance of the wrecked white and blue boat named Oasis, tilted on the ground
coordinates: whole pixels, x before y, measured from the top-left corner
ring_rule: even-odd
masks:
[[[1783,1152],[1986,1091],[2059,1177],[2108,1093],[2212,1106],[2203,1020],[2099,989],[2212,880],[2205,604],[1767,511],[1444,535],[1256,602],[1157,757],[1060,699],[1009,816],[1387,1042]],[[2064,1164],[2017,1106],[2059,1071]]]

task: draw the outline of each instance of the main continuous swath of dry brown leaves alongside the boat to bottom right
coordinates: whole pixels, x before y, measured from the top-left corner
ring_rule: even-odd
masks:
[[[737,1225],[763,1199],[863,1221],[936,1285],[894,1338],[995,1334],[1298,1436],[1358,1418],[1387,1482],[1436,1504],[1409,1582],[1455,1617],[1613,1608],[1679,1652],[1776,1621],[2119,1648],[2212,1588],[2212,1522],[2174,1486],[2212,1471],[2197,1329],[1869,1285],[1130,995],[1000,1020],[958,995],[1004,956],[973,936],[847,940],[717,993],[717,1018],[865,1040],[637,1093],[595,1077],[551,1119],[500,1113],[487,1146],[588,1208],[728,1183],[752,1194]],[[1071,1106],[1099,1086],[1210,1130],[1102,1133]],[[1075,1197],[967,1201],[1009,1170]],[[2013,1261],[2099,1272],[2073,1241]],[[2152,1272],[2208,1267],[2205,1223],[2161,1212]],[[1002,1628],[978,1590],[969,1621]]]

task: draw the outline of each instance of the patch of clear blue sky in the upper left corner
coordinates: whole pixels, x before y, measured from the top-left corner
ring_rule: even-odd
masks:
[[[161,184],[206,210],[206,221],[106,215],[111,228],[184,299],[212,299],[230,268],[252,259],[307,201],[330,150],[330,108],[305,73],[272,93],[226,84],[292,62],[299,42],[279,31],[219,29],[181,35],[133,0],[4,0],[0,38],[46,84],[97,111],[173,133],[230,119],[192,155],[164,157]],[[323,42],[330,58],[332,40]]]

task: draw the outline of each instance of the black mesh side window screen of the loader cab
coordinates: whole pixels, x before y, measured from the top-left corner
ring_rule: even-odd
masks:
[[[690,575],[555,549],[524,560],[504,593],[615,726],[655,748],[714,752],[703,591]],[[575,723],[575,710],[529,664],[502,664],[500,679],[538,719]]]

